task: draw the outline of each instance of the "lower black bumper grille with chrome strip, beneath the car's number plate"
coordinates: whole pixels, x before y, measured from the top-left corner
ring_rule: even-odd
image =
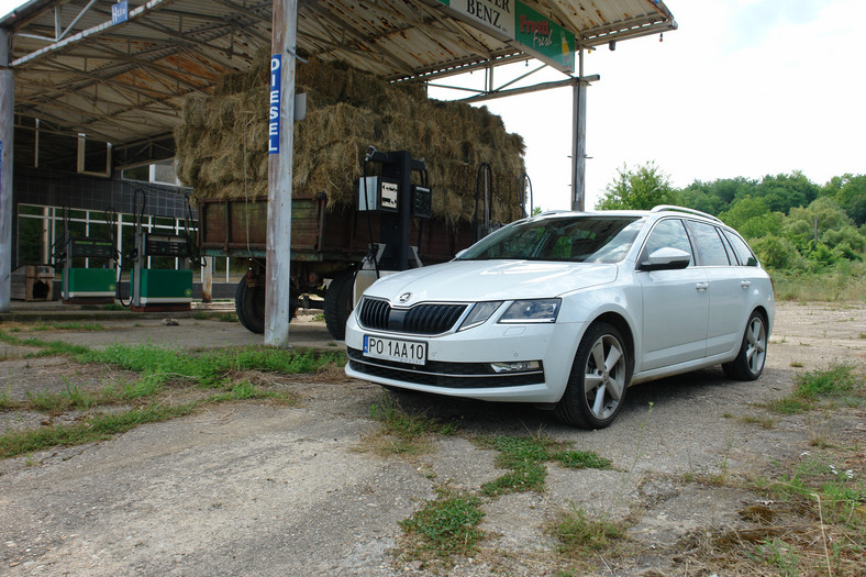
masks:
[[[544,382],[543,367],[532,373],[496,374],[486,363],[428,360],[424,366],[415,366],[365,357],[364,353],[352,347],[348,347],[346,353],[349,366],[358,373],[415,385],[431,385],[449,389],[481,389]]]

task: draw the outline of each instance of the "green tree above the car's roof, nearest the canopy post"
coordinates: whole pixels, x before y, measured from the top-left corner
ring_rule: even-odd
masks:
[[[639,166],[635,170],[623,165],[617,173],[617,178],[608,185],[596,209],[650,210],[658,204],[673,204],[677,200],[670,179],[655,163]]]

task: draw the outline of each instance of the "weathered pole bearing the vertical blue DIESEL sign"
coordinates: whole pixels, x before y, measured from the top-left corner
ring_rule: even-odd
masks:
[[[279,115],[276,124],[271,118],[270,126],[270,135],[277,140],[278,147],[274,151],[271,144],[268,151],[265,344],[280,347],[289,344],[291,313],[291,162],[297,35],[298,0],[274,0],[270,103],[274,107],[279,102]],[[275,93],[277,86],[279,89]]]

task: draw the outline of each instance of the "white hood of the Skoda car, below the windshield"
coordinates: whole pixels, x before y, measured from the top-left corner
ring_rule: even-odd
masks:
[[[452,260],[382,277],[365,295],[404,307],[424,301],[541,299],[615,279],[617,265],[611,264]]]

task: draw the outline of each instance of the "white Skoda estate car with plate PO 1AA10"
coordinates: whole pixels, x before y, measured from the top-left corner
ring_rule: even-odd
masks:
[[[346,374],[599,429],[630,385],[717,364],[758,378],[775,309],[769,276],[714,217],[547,213],[373,284],[346,323]]]

